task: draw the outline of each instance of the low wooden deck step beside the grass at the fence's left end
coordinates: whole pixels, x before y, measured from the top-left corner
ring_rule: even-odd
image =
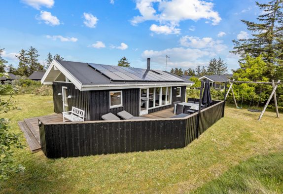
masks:
[[[18,125],[20,126],[21,130],[24,132],[25,138],[32,153],[40,151],[41,150],[40,143],[37,141],[37,139],[35,138],[34,134],[30,130],[28,125],[25,123],[25,121],[19,121]]]

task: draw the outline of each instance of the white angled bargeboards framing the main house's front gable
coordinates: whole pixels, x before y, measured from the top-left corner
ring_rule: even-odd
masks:
[[[48,84],[50,81],[45,81],[46,77],[48,76],[49,72],[52,70],[54,66],[54,69],[60,71],[62,74],[64,74],[79,90],[81,90],[82,83],[77,80],[73,75],[70,74],[56,59],[53,59],[52,63],[48,67],[47,71],[43,75],[41,79],[41,84]],[[55,80],[53,80],[55,81]]]

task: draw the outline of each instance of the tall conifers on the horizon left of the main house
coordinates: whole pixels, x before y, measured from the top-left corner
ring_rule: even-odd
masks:
[[[4,60],[1,55],[3,54],[4,48],[0,49],[0,73],[7,72],[19,76],[29,77],[33,72],[36,71],[45,71],[51,64],[53,59],[64,60],[59,54],[52,54],[49,52],[45,62],[42,64],[38,61],[38,51],[33,46],[28,50],[21,49],[20,52],[16,55],[19,59],[19,64],[17,67],[12,64],[6,65],[7,61]]]

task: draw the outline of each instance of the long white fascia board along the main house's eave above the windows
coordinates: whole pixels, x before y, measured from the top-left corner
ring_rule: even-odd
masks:
[[[131,88],[148,88],[148,87],[167,87],[167,86],[192,86],[194,83],[162,83],[162,84],[109,84],[109,85],[82,85],[81,91],[88,90],[119,90]]]

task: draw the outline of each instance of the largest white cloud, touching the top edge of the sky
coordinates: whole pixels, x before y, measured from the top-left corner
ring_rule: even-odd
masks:
[[[180,21],[199,19],[211,20],[212,25],[216,25],[221,20],[218,12],[213,10],[213,3],[203,0],[136,0],[136,8],[141,15],[131,20],[132,25],[152,20],[175,27]],[[175,31],[172,33],[176,34]]]

